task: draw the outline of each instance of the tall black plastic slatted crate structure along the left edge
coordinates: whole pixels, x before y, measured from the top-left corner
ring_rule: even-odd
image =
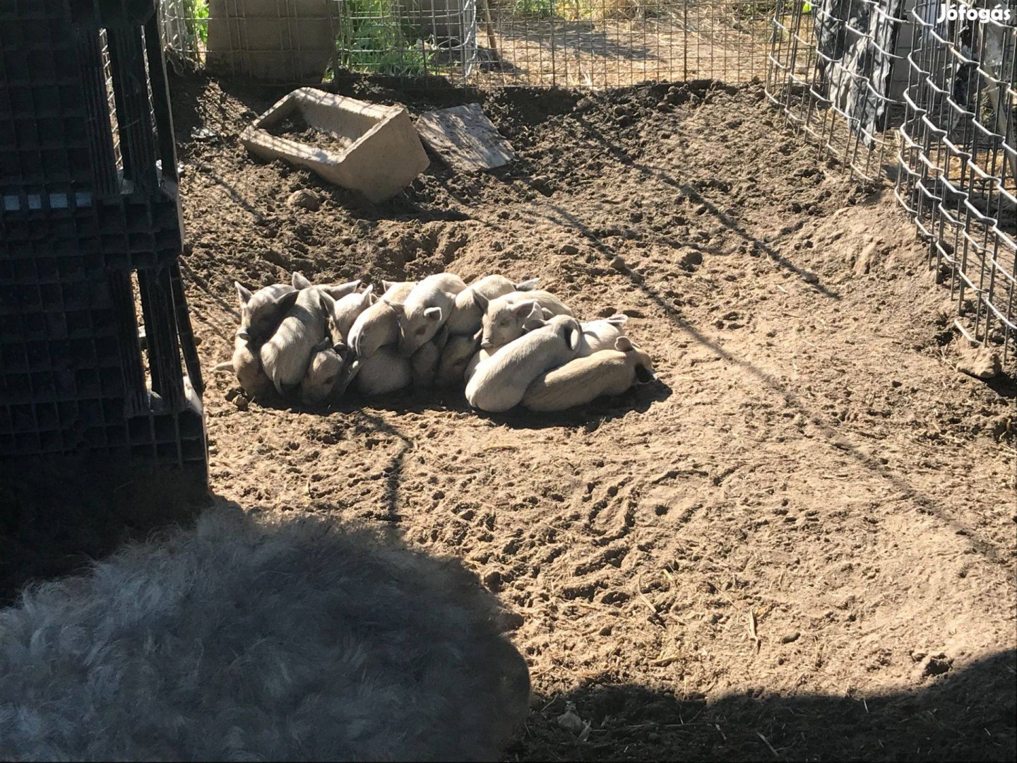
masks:
[[[0,2],[0,457],[206,474],[172,135],[154,0]]]

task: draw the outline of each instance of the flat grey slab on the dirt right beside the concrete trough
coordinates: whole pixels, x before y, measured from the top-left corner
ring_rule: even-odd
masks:
[[[427,111],[417,119],[417,132],[454,170],[476,172],[515,161],[516,154],[491,124],[480,104]]]

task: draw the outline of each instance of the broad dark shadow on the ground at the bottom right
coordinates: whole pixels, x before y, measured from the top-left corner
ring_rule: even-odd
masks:
[[[962,670],[925,678],[913,691],[850,697],[767,696],[761,688],[708,703],[592,679],[573,692],[538,697],[510,755],[583,761],[1012,761],[1015,658],[1017,652],[1005,650]],[[566,707],[591,724],[586,741],[557,722]]]

